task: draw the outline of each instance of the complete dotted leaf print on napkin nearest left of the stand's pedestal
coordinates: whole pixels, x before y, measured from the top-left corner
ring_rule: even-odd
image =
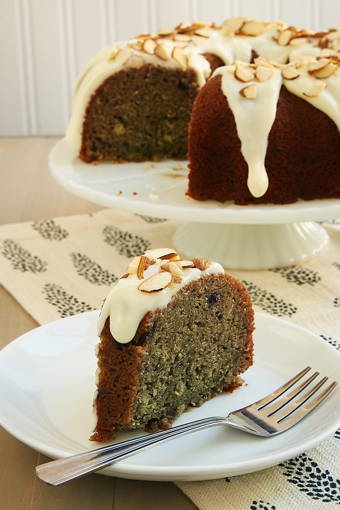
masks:
[[[114,246],[120,255],[125,257],[136,257],[150,247],[150,242],[130,232],[108,225],[103,229],[104,241]]]

